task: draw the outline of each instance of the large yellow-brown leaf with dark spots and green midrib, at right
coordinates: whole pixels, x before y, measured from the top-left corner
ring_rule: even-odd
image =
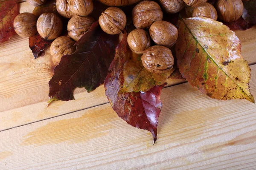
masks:
[[[233,31],[206,17],[182,19],[178,31],[177,65],[192,86],[211,98],[255,102],[248,85],[250,67]]]

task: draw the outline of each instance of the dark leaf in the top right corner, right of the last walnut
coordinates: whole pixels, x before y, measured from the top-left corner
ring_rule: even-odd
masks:
[[[247,23],[256,24],[256,0],[243,1],[244,11],[242,17]]]

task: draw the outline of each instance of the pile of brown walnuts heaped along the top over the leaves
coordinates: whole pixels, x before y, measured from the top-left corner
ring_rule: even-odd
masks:
[[[46,0],[27,0],[32,6],[40,6]],[[136,29],[128,34],[128,45],[136,54],[142,54],[143,66],[150,72],[161,74],[172,69],[174,58],[171,48],[177,41],[177,28],[167,21],[162,21],[163,11],[174,14],[185,6],[192,6],[192,17],[203,16],[217,20],[219,17],[226,22],[233,22],[241,17],[243,3],[241,0],[218,0],[216,6],[207,0],[98,0],[111,6],[102,12],[99,25],[107,34],[119,34],[126,26],[125,13],[115,6],[127,6],[137,3],[131,11],[132,21]],[[99,3],[99,2],[94,2]],[[52,60],[60,62],[63,55],[72,54],[78,41],[93,24],[95,19],[88,15],[93,11],[92,0],[57,0],[58,13],[70,18],[68,36],[61,36],[63,23],[54,13],[44,13],[40,17],[22,13],[14,20],[14,28],[18,35],[30,37],[37,32],[47,40],[53,40],[50,47]],[[216,9],[215,9],[216,8]],[[162,11],[163,10],[163,11]],[[156,45],[151,45],[151,40]]]

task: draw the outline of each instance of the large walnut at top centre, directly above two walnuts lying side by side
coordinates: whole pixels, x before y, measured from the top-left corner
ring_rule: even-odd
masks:
[[[152,23],[162,19],[163,12],[160,6],[151,0],[143,0],[132,10],[132,21],[136,28],[149,28]]]

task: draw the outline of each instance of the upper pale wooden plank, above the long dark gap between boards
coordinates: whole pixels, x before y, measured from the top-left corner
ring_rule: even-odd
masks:
[[[20,12],[32,12],[34,8],[27,2],[19,5]],[[236,31],[242,44],[241,53],[250,64],[256,62],[255,31],[256,26],[247,31]],[[50,107],[45,108],[52,67],[49,49],[43,57],[33,59],[28,38],[15,35],[0,45],[0,130],[108,102],[104,87],[100,86],[90,94],[84,89],[76,89],[75,101],[53,102]],[[169,80],[168,86],[180,82]]]

